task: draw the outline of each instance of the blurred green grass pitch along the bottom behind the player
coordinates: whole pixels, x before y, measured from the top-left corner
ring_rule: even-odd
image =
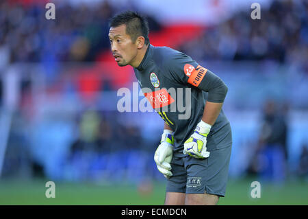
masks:
[[[48,180],[47,180],[48,181]],[[164,182],[138,185],[55,181],[55,198],[46,198],[47,181],[0,181],[0,205],[163,205]],[[254,180],[229,180],[218,205],[308,205],[307,181],[261,183],[261,198],[251,198]]]

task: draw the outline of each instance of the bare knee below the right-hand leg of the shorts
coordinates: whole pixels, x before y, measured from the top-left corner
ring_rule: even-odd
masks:
[[[186,194],[185,205],[217,205],[219,197],[212,194]]]

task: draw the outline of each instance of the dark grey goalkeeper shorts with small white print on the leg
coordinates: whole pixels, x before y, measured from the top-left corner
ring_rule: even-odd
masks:
[[[172,176],[167,181],[166,192],[185,194],[214,194],[224,197],[226,192],[231,143],[224,148],[211,150],[206,159],[183,157],[174,152],[171,165]]]

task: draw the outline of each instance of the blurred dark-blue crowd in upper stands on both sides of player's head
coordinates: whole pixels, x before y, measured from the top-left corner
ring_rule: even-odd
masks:
[[[0,2],[1,62],[94,61],[109,49],[108,19],[116,11],[107,1],[60,5],[53,22],[45,11],[42,5]],[[176,49],[196,60],[277,60],[307,69],[307,1],[273,1],[270,8],[261,7],[260,20],[250,19],[250,13],[205,27],[202,36]],[[159,30],[148,17],[150,30]]]

